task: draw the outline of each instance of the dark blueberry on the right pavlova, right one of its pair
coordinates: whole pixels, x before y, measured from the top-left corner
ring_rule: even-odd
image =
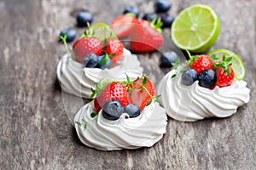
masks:
[[[217,76],[215,74],[215,71],[212,71],[212,69],[201,71],[201,73],[198,76],[198,81],[201,87],[204,87],[204,88],[212,87],[217,81]]]

